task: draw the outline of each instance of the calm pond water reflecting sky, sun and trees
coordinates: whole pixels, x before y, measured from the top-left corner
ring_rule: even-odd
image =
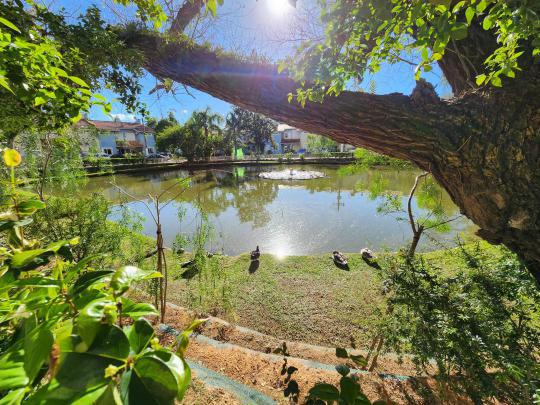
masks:
[[[178,233],[190,235],[200,223],[197,206],[206,214],[213,228],[208,244],[210,251],[236,255],[253,250],[278,256],[307,255],[341,250],[357,252],[363,247],[395,251],[410,241],[407,222],[397,220],[403,214],[381,215],[380,198],[372,198],[373,188],[397,192],[406,203],[414,183],[415,170],[369,169],[342,175],[338,166],[295,166],[295,170],[316,170],[325,177],[311,180],[271,180],[259,177],[261,172],[283,170],[276,167],[221,167],[213,170],[153,172],[116,175],[114,181],[131,197],[126,197],[111,182],[112,177],[92,178],[83,193],[104,194],[113,203],[127,199],[130,209],[144,216],[144,232],[154,235],[155,225],[145,202],[149,194],[164,190],[164,200],[178,193],[175,184],[191,178],[191,187],[162,211],[163,235],[172,246]],[[451,216],[457,207],[448,195],[440,193],[442,206]],[[136,201],[136,199],[141,201]],[[422,200],[414,201],[418,214],[424,211]],[[179,209],[185,211],[182,222]],[[450,224],[450,231],[431,233],[423,238],[419,249],[431,250],[455,244],[460,233],[471,234],[472,224],[460,218]],[[189,249],[189,248],[188,248]]]

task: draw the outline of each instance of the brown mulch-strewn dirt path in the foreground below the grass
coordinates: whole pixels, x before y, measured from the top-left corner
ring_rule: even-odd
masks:
[[[192,315],[174,306],[168,311],[167,323],[176,330],[182,330],[193,319]],[[343,363],[343,359],[337,359],[332,349],[289,342],[289,357],[269,354],[265,353],[267,350],[264,341],[269,337],[242,328],[237,330],[222,322],[212,319],[209,326],[201,330],[202,335],[193,336],[187,352],[189,360],[252,387],[283,404],[290,403],[291,397],[303,403],[309,389],[319,382],[339,386],[339,374],[334,366]],[[225,326],[227,331],[220,332],[220,325]],[[209,335],[228,336],[228,341],[219,342]],[[171,330],[162,333],[161,337],[165,342],[174,339]],[[265,347],[265,350],[260,350],[261,347]],[[286,379],[286,373],[282,374],[285,361],[287,367],[297,369],[289,379]],[[400,375],[410,371],[409,367],[400,366],[395,359],[385,359],[377,372],[354,372],[362,390],[372,401],[384,400],[394,404],[468,403],[466,399],[450,392],[441,392],[432,378]],[[292,396],[287,397],[286,391],[291,391]]]

